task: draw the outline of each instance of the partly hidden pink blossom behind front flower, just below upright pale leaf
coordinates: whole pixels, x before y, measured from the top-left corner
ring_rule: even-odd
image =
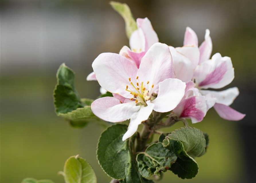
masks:
[[[137,18],[136,22],[138,29],[130,37],[130,48],[122,47],[119,54],[129,59],[139,68],[141,58],[159,40],[148,18]],[[86,79],[87,81],[97,81],[94,72],[90,73]]]

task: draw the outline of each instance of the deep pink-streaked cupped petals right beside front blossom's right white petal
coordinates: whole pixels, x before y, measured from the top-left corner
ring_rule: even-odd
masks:
[[[205,97],[195,87],[195,83],[186,83],[185,95],[173,112],[179,118],[190,118],[192,123],[201,122],[207,112]]]

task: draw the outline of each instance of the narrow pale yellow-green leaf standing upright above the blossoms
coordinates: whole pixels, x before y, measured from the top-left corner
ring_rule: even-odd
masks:
[[[136,21],[134,20],[131,10],[126,3],[119,3],[115,1],[111,1],[110,5],[114,10],[116,10],[124,19],[125,27],[126,27],[126,35],[128,38],[132,35],[132,33],[138,29]]]

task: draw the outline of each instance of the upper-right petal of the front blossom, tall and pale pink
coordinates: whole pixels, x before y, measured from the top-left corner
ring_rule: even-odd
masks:
[[[141,59],[138,79],[144,83],[149,81],[149,86],[154,85],[149,91],[152,94],[158,90],[159,82],[171,77],[175,77],[175,74],[169,47],[163,43],[155,43]]]

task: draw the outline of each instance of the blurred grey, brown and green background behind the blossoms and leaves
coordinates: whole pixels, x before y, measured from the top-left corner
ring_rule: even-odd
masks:
[[[124,1],[121,1],[124,2]],[[160,42],[182,46],[186,26],[199,42],[211,31],[213,53],[230,56],[240,96],[232,107],[246,113],[240,122],[222,120],[212,109],[191,125],[210,136],[208,152],[196,160],[199,173],[168,182],[256,182],[255,160],[255,0],[129,0],[137,17],[148,17]],[[128,45],[124,21],[104,0],[1,0],[1,182],[23,178],[63,183],[57,172],[79,154],[93,166],[99,183],[110,178],[96,159],[103,126],[74,129],[54,113],[56,70],[63,62],[76,72],[81,97],[96,98],[99,85],[86,81],[102,52]],[[227,88],[227,87],[226,87]],[[171,131],[181,124],[165,129]]]

